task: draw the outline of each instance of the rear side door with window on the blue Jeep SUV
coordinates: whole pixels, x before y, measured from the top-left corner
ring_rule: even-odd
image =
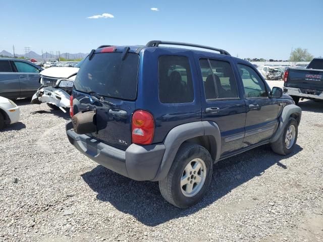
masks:
[[[215,122],[221,132],[225,155],[241,147],[246,107],[238,92],[237,78],[230,62],[222,59],[199,60],[201,76],[202,120]]]

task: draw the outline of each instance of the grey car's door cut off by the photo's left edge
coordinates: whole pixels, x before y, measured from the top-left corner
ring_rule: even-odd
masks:
[[[17,98],[20,95],[19,76],[9,60],[0,60],[0,96]]]

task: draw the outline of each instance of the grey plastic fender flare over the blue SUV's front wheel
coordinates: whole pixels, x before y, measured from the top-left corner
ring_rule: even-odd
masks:
[[[279,139],[279,137],[281,136],[285,127],[288,124],[289,117],[293,113],[297,113],[297,115],[298,115],[297,123],[299,124],[299,122],[301,120],[301,116],[302,116],[302,109],[299,106],[296,106],[294,104],[290,104],[290,105],[285,106],[282,111],[281,116],[279,117],[279,125],[277,128],[277,131],[276,131],[275,135],[270,139],[271,143],[275,142]]]

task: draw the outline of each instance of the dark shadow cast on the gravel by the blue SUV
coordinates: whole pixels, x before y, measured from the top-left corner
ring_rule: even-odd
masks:
[[[273,153],[269,145],[265,145],[220,161],[213,167],[211,185],[204,199],[185,210],[166,202],[159,193],[158,183],[135,181],[100,165],[81,176],[97,193],[98,200],[110,202],[119,211],[131,214],[147,226],[156,226],[207,207],[246,181],[262,175],[272,165],[288,169],[281,160],[301,150],[296,145],[292,154],[280,156]]]

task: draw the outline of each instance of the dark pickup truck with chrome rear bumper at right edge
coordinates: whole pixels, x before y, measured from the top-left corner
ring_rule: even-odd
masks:
[[[314,58],[305,69],[289,68],[284,74],[284,93],[299,99],[323,100],[323,58]]]

